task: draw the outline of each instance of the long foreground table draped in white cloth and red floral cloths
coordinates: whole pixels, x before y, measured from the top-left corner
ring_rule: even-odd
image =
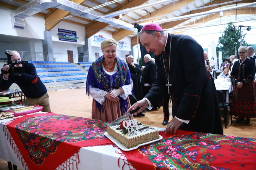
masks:
[[[183,130],[172,135],[158,128],[162,140],[122,151],[102,135],[108,123],[44,112],[0,120],[0,158],[31,170],[255,169],[254,138]],[[83,136],[93,136],[91,146]],[[60,157],[64,160],[53,165]]]

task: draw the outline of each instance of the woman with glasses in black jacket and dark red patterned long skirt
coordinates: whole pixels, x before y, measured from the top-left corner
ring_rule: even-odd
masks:
[[[239,61],[234,63],[231,80],[233,82],[233,99],[231,114],[238,116],[237,123],[250,124],[250,118],[256,117],[254,75],[255,63],[246,58],[248,48],[238,48]],[[246,119],[245,119],[246,118]]]

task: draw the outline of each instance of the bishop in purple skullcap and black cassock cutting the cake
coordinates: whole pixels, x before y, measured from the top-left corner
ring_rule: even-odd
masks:
[[[155,23],[146,24],[139,40],[156,56],[157,77],[149,93],[127,112],[156,108],[165,93],[173,96],[172,114],[165,133],[177,129],[223,134],[214,81],[204,64],[203,48],[187,35],[166,34]]]

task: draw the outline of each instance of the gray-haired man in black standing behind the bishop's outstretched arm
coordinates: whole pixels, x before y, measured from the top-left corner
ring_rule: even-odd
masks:
[[[151,61],[151,56],[149,54],[144,55],[144,62],[146,63],[146,66],[141,75],[143,96],[148,93],[156,79],[156,64]]]

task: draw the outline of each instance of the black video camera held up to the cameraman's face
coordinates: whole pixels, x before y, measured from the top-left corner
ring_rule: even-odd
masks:
[[[10,69],[7,71],[1,69],[2,74],[24,74],[24,67],[15,67],[16,64],[28,64],[28,60],[21,60],[21,61],[11,61],[10,54],[6,53],[7,55],[7,64],[4,64],[3,66],[9,65]]]

